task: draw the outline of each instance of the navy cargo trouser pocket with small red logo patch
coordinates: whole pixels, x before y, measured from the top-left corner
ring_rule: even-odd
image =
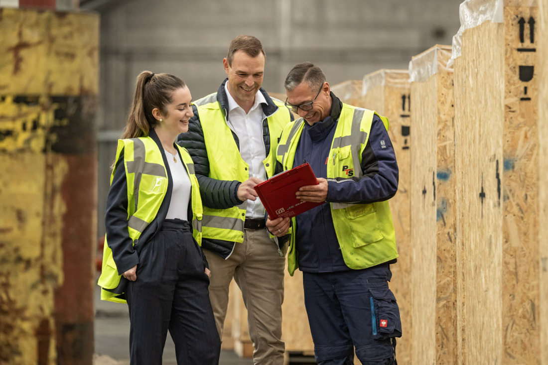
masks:
[[[373,338],[386,340],[402,337],[402,322],[396,297],[389,288],[369,289]]]

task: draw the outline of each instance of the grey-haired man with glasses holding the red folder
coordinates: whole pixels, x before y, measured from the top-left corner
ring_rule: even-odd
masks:
[[[318,185],[296,197],[325,202],[291,219],[288,250],[289,273],[303,273],[316,361],[353,364],[355,347],[363,364],[396,364],[402,328],[388,286],[398,257],[388,199],[398,166],[388,120],[341,102],[310,62],[293,67],[285,87],[286,106],[300,118],[282,132],[277,172],[310,163]],[[282,236],[289,218],[266,226]]]

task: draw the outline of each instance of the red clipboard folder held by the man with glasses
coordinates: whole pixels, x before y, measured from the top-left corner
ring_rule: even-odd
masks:
[[[270,219],[292,217],[311,208],[321,206],[321,203],[301,202],[295,197],[295,192],[301,186],[317,185],[318,180],[308,163],[272,176],[270,179],[255,185],[266,213]]]

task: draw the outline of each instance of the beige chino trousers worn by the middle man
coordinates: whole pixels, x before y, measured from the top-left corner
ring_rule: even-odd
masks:
[[[283,365],[282,303],[287,244],[280,256],[266,229],[245,229],[243,243],[236,243],[226,260],[207,249],[203,251],[211,270],[209,299],[220,338],[233,277],[247,308],[253,363]]]

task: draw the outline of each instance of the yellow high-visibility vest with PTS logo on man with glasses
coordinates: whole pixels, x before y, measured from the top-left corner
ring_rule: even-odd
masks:
[[[329,151],[328,179],[348,178],[349,170],[353,172],[353,176],[362,176],[362,152],[367,145],[375,114],[374,111],[343,103]],[[379,117],[388,130],[388,119]],[[304,123],[304,119],[299,118],[289,123],[283,130],[276,158],[284,170],[293,168],[295,151]],[[346,266],[350,269],[366,269],[398,257],[388,201],[370,204],[329,204],[335,233]],[[292,218],[292,226],[296,227],[295,218]],[[290,275],[293,275],[298,267],[295,229],[291,233],[287,261],[288,271]]]

